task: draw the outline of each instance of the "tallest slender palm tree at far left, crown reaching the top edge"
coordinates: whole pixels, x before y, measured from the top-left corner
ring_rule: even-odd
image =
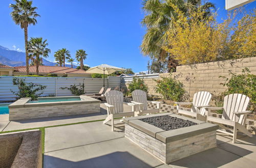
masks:
[[[25,50],[26,50],[26,70],[27,75],[29,74],[29,53],[28,53],[28,26],[30,24],[35,25],[37,20],[35,19],[38,15],[35,10],[36,7],[32,7],[32,1],[27,0],[15,0],[16,4],[10,4],[12,8],[11,16],[15,24],[20,25],[24,29],[25,34]]]

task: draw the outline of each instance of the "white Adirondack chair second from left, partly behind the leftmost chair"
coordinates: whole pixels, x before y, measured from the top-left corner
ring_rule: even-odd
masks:
[[[148,101],[146,99],[146,92],[142,91],[142,90],[135,90],[132,92],[132,96],[133,96],[133,101],[131,101],[134,104],[138,104],[139,105],[139,109],[136,109],[135,111],[135,116],[138,115],[143,115],[143,114],[154,114],[154,113],[159,113],[160,111],[160,104],[162,102],[160,101]],[[157,108],[155,109],[148,109],[147,108],[147,103],[151,102],[154,104],[157,104]]]

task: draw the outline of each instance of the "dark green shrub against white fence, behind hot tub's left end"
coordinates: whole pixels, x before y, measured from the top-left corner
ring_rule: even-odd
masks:
[[[18,92],[11,90],[11,92],[17,96],[17,100],[24,97],[31,97],[32,100],[36,100],[37,97],[42,94],[42,92],[36,92],[46,89],[46,86],[38,85],[32,82],[25,83],[25,79],[19,79],[16,77],[13,78],[12,82],[13,85],[18,87]]]

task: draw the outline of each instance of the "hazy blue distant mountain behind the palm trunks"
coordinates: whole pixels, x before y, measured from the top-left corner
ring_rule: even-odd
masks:
[[[26,65],[26,53],[18,52],[15,50],[10,50],[6,47],[0,45],[0,63],[4,65],[9,65],[12,67],[25,66]],[[47,66],[55,66],[56,63],[50,62],[46,59],[42,59],[42,64]],[[71,67],[71,65],[65,65],[66,67]],[[77,66],[73,65],[73,68]]]

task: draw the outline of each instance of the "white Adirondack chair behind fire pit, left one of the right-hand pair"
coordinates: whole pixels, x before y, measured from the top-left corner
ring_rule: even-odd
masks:
[[[177,104],[178,114],[195,117],[197,120],[206,121],[205,108],[209,106],[211,94],[201,91],[194,94],[193,102],[175,102]],[[190,111],[180,109],[181,105],[192,104]]]

